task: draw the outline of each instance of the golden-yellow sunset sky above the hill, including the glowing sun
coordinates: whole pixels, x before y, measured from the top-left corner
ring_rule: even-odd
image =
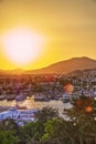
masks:
[[[10,59],[9,41],[14,54],[20,41],[28,48]],[[96,0],[0,0],[0,69],[39,69],[73,56],[96,59]]]

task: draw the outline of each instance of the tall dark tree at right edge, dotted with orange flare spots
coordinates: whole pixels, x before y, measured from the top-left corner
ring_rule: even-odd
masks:
[[[96,101],[92,97],[82,96],[74,101],[71,110],[65,110],[70,121],[76,127],[75,140],[79,144],[96,143]],[[71,130],[72,132],[72,130]]]

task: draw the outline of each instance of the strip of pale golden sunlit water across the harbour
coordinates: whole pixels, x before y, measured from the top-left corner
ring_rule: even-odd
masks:
[[[42,107],[45,107],[45,106],[51,106],[51,107],[57,109],[60,114],[63,113],[64,109],[71,107],[70,103],[66,104],[66,103],[63,103],[62,101],[55,101],[55,100],[52,100],[50,102],[34,101],[33,96],[32,97],[28,96],[26,100],[24,100],[24,101],[18,101],[18,104],[20,106],[26,106],[28,109],[42,109]],[[17,105],[15,100],[13,100],[13,101],[7,101],[7,100],[0,101],[0,106],[15,106],[15,105]]]

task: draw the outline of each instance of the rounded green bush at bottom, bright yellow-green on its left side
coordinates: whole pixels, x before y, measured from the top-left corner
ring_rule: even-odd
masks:
[[[56,144],[74,144],[76,127],[73,122],[62,119],[49,120],[45,124],[45,133],[41,141]],[[76,141],[77,142],[77,141]]]

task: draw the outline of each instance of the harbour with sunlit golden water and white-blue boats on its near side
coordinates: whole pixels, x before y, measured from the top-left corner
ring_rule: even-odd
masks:
[[[4,105],[4,106],[3,106]],[[34,113],[43,107],[53,107],[58,110],[60,116],[63,115],[64,109],[70,109],[72,105],[70,103],[63,103],[63,101],[51,100],[46,101],[35,101],[32,97],[26,97],[24,101],[0,101],[0,115],[6,114],[6,117],[0,117],[0,120],[11,117],[14,119],[18,124],[19,122],[28,123],[30,121],[35,121]],[[11,113],[11,114],[10,114]]]

